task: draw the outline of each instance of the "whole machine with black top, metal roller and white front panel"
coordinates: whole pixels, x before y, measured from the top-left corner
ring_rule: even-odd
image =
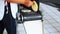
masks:
[[[32,0],[33,1],[33,0]],[[35,0],[38,3],[37,0]],[[10,9],[10,8],[9,8]],[[41,11],[34,12],[31,7],[18,4],[16,14],[17,34],[42,34]]]

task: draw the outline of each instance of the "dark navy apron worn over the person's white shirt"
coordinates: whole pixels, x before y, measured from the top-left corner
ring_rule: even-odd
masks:
[[[6,28],[8,34],[16,34],[16,22],[15,19],[12,17],[10,10],[8,11],[8,14],[5,10],[4,17],[0,21],[0,34],[3,34],[4,28]]]

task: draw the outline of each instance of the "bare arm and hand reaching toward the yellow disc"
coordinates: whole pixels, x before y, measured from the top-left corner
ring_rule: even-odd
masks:
[[[33,5],[33,2],[30,0],[6,0],[6,1],[11,3],[24,4],[27,7],[31,7]]]

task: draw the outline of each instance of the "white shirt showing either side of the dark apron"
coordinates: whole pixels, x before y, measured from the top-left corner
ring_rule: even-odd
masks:
[[[4,6],[5,6],[5,0],[0,0],[0,20],[3,19],[4,16]],[[11,13],[14,19],[16,19],[16,13],[18,11],[17,4],[15,3],[10,3],[11,5]]]

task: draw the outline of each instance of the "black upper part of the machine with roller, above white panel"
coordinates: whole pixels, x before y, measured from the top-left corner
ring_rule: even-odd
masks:
[[[36,2],[39,7],[39,2],[37,0]],[[31,7],[26,7],[25,5],[18,5],[18,12],[17,12],[18,22],[41,20],[41,19],[42,19],[42,14],[39,8],[37,12],[34,12]]]

